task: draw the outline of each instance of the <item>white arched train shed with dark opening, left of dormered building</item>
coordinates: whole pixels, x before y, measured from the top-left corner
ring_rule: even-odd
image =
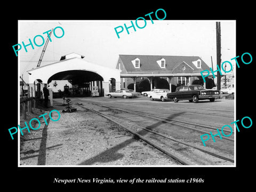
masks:
[[[97,87],[99,93],[97,96],[104,96],[104,92],[120,87],[118,69],[91,63],[86,61],[83,55],[77,53],[63,55],[58,62],[39,66],[27,72],[30,97],[42,98],[44,84],[49,85],[51,82],[61,80],[67,80],[73,90],[81,96],[92,96],[94,87]]]

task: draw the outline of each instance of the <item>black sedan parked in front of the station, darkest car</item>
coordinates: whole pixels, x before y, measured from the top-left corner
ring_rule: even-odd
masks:
[[[199,100],[205,99],[213,102],[215,99],[220,99],[220,91],[206,90],[202,85],[185,85],[177,87],[173,93],[167,93],[167,98],[173,99],[174,102],[189,100],[189,102],[197,103]]]

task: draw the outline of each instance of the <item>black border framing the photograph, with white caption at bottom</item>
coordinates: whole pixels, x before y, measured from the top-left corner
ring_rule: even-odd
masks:
[[[24,4],[26,5],[24,5]],[[253,183],[253,173],[250,174],[253,167],[253,141],[255,135],[255,115],[253,113],[254,105],[254,69],[255,69],[255,32],[253,25],[253,4],[241,3],[239,6],[223,5],[223,2],[205,2],[204,4],[196,4],[194,2],[174,4],[167,2],[155,4],[154,2],[141,3],[140,6],[134,2],[118,2],[92,5],[89,2],[75,3],[71,2],[58,3],[53,5],[52,2],[39,2],[40,5],[22,2],[15,5],[7,6],[8,14],[2,15],[4,27],[2,29],[2,38],[4,40],[4,50],[2,57],[4,62],[2,66],[2,95],[4,117],[2,119],[3,127],[1,129],[4,142],[2,149],[4,155],[4,185],[13,186],[17,184],[20,188],[30,189],[31,186],[35,189],[52,189],[56,187],[61,189],[75,188],[76,186],[83,187],[131,187],[136,188],[141,186],[146,187],[195,187],[198,190],[211,189],[205,188],[214,187],[222,189],[235,188],[245,184],[249,187]],[[13,54],[12,45],[18,43],[18,20],[135,20],[150,12],[155,12],[157,9],[164,9],[167,13],[165,20],[236,20],[236,47],[237,55],[244,52],[249,52],[252,55],[253,61],[250,65],[244,65],[241,59],[240,68],[236,69],[236,119],[242,119],[244,116],[250,116],[253,120],[253,125],[250,129],[240,129],[237,132],[236,142],[236,157],[237,167],[18,167],[18,138],[14,137],[11,140],[7,129],[18,124],[18,60]],[[4,13],[6,13],[4,12]],[[3,13],[1,13],[3,14]],[[10,16],[10,17],[9,17]],[[253,34],[254,33],[254,34]],[[253,49],[254,48],[254,49]],[[231,58],[230,58],[231,59]],[[222,61],[223,62],[223,61]],[[16,89],[17,88],[17,89]],[[6,167],[6,169],[5,169]],[[54,178],[61,179],[92,179],[92,178],[111,178],[111,179],[190,179],[203,178],[204,183],[161,183],[161,184],[58,184],[53,183]],[[50,187],[50,188],[49,188]],[[220,188],[221,187],[221,188]],[[33,189],[33,188],[31,188]]]

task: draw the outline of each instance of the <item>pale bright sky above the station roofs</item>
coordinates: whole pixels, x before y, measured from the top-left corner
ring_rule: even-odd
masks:
[[[139,29],[133,21],[136,31],[129,28],[127,34],[124,23],[131,26],[131,20],[21,20],[19,21],[18,42],[29,44],[36,35],[47,38],[45,31],[62,27],[65,34],[61,38],[51,35],[52,42],[47,45],[41,66],[57,62],[62,55],[78,53],[86,61],[115,68],[119,54],[141,55],[182,55],[199,56],[213,69],[216,69],[216,20],[146,20],[146,27]],[[221,22],[221,61],[230,61],[236,57],[236,22]],[[139,20],[139,26],[145,25]],[[122,26],[124,31],[117,37],[115,27]],[[120,30],[118,28],[117,30]],[[62,31],[55,30],[57,36]],[[36,38],[41,44],[40,37]],[[34,44],[34,43],[33,43]],[[43,46],[22,47],[18,52],[20,76],[28,82],[27,70],[36,68]],[[15,53],[13,51],[15,56]],[[230,61],[235,64],[235,61]],[[227,66],[227,71],[229,70]]]

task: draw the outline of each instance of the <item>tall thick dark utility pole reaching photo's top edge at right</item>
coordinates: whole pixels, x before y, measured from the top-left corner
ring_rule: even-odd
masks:
[[[220,40],[220,22],[216,22],[216,42],[217,42],[217,69],[221,70],[221,40]],[[220,71],[217,71],[217,89],[220,90]]]

